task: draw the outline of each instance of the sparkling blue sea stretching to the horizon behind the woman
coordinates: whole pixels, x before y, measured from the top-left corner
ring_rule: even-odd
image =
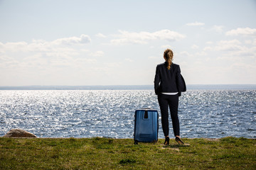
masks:
[[[161,112],[153,86],[0,86],[0,136],[134,137],[134,113]],[[256,85],[188,85],[178,106],[181,137],[256,137]],[[170,136],[174,135],[169,115]]]

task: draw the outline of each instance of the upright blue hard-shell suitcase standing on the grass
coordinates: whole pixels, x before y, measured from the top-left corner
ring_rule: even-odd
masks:
[[[134,144],[138,142],[156,142],[158,140],[159,115],[153,109],[135,111]]]

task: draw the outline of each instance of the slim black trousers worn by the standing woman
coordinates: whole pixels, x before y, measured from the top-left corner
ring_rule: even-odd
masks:
[[[171,120],[174,128],[174,136],[179,136],[179,121],[178,121],[178,94],[166,95],[159,94],[158,101],[161,111],[161,123],[164,131],[164,136],[169,136],[169,120],[168,106],[171,112]]]

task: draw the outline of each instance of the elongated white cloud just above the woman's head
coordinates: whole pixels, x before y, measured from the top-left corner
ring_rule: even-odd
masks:
[[[114,45],[121,44],[146,44],[149,40],[169,40],[176,41],[186,37],[180,33],[171,30],[159,30],[154,33],[149,32],[128,32],[125,30],[119,30],[119,34],[115,35],[118,38],[111,40]]]

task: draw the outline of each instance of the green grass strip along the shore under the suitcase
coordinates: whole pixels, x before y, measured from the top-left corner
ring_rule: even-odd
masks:
[[[256,140],[0,137],[0,169],[256,169]]]

